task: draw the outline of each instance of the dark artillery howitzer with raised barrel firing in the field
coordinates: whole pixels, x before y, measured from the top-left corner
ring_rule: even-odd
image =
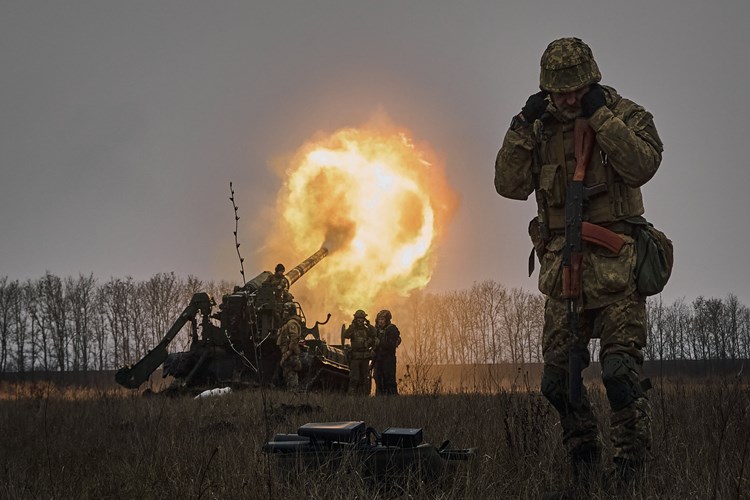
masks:
[[[328,249],[322,247],[286,273],[289,285],[326,255]],[[277,331],[282,325],[284,304],[293,299],[287,290],[267,281],[270,275],[264,271],[244,286],[235,287],[234,292],[222,297],[215,312],[216,302],[208,293],[194,294],[161,342],[135,365],[118,370],[117,383],[136,389],[163,363],[162,376],[172,375],[176,388],[240,381],[280,385],[281,350],[276,345]],[[318,329],[331,315],[308,328],[302,307],[298,302],[295,305],[304,338],[300,354],[301,387],[345,390],[349,379],[346,354],[321,340]],[[167,346],[188,322],[191,323],[190,349],[169,354]]]

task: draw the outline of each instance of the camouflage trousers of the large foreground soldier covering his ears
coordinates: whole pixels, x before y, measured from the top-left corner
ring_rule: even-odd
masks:
[[[641,349],[646,345],[645,299],[633,294],[608,306],[581,311],[580,335],[568,328],[567,304],[548,298],[544,308],[542,392],[560,414],[563,445],[575,458],[598,455],[599,427],[585,387],[581,404],[568,397],[568,358],[572,345],[586,348],[591,338],[601,339],[602,379],[610,403],[614,457],[641,463],[651,446],[651,407],[640,386]],[[588,355],[583,360],[589,365]]]

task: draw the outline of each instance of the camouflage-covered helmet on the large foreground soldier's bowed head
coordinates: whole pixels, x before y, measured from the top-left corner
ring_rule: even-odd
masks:
[[[564,93],[601,81],[594,54],[580,38],[560,38],[542,54],[539,88]]]

